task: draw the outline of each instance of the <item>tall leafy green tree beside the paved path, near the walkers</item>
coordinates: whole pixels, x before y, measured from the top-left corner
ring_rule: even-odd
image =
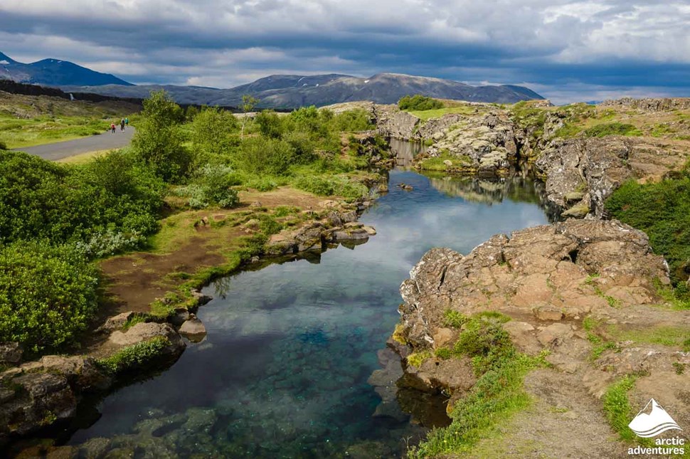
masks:
[[[164,90],[144,99],[142,120],[132,139],[137,155],[165,181],[176,181],[189,172],[191,154],[182,145],[179,120],[182,109]]]

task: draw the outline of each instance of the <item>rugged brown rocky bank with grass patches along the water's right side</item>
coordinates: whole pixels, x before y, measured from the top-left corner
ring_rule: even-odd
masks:
[[[627,411],[612,414],[610,405],[605,416],[602,399],[612,403],[611,394],[619,397],[615,403],[630,402],[630,411],[663,397],[678,423],[690,423],[690,311],[674,310],[662,295],[669,268],[647,236],[607,220],[604,206],[624,181],[662,179],[686,164],[686,113],[659,112],[688,107],[688,100],[669,99],[545,110],[478,105],[427,122],[405,118],[398,132],[432,143],[418,166],[438,167],[443,159],[446,172],[501,174],[527,160],[544,181],[545,199],[569,218],[496,235],[467,255],[433,248],[400,286],[401,319],[388,342],[403,359],[398,386],[445,394],[455,419],[447,436],[429,440],[432,451],[457,452],[450,443],[465,435],[472,416],[487,414],[473,410],[502,416],[501,397],[509,395],[501,384],[489,389],[486,378],[528,357],[544,360],[520,379],[531,405],[491,441],[477,440],[477,450],[627,457],[625,443],[596,440],[615,438],[610,426],[625,428],[612,416],[632,419]],[[385,132],[396,132],[388,126],[394,120],[386,117]],[[457,161],[467,167],[455,168]],[[622,387],[627,393],[615,392]],[[494,449],[496,437],[502,453]]]

